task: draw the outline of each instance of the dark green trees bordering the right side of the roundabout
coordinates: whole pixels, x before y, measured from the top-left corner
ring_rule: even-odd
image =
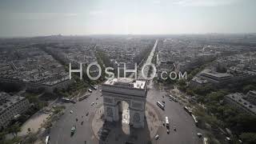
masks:
[[[251,136],[256,136],[256,116],[242,113],[238,108],[223,102],[225,95],[230,94],[229,89],[218,90],[207,85],[195,89],[187,87],[186,93],[194,95],[198,102],[206,106],[206,110],[196,110],[196,114],[204,122],[211,126],[230,127],[243,142],[253,142],[254,138]]]

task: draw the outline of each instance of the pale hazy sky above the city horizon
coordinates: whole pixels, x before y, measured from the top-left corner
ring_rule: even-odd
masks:
[[[256,0],[0,0],[0,37],[255,32]]]

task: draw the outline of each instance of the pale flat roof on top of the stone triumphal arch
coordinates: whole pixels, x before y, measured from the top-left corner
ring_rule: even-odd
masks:
[[[136,89],[145,89],[146,81],[135,80],[134,78],[113,78],[107,80],[105,85],[115,85],[115,86],[127,86]]]

